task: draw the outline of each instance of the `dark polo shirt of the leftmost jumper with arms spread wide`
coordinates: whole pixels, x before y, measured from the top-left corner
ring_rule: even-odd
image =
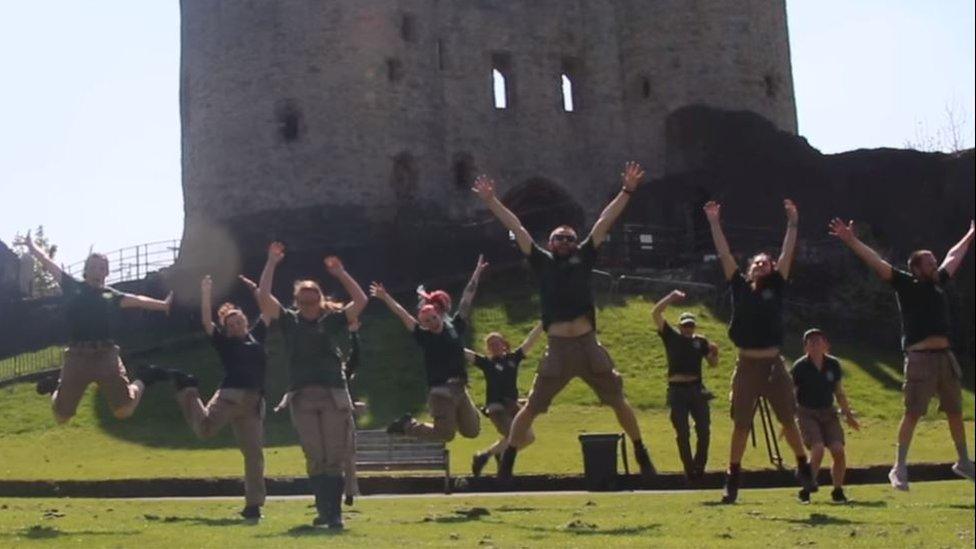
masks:
[[[68,320],[68,341],[115,339],[119,310],[126,294],[110,286],[96,288],[79,282],[68,273],[61,275],[60,286]]]

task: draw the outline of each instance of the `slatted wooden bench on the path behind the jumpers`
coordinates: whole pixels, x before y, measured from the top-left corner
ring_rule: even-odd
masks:
[[[444,493],[451,493],[450,450],[443,442],[382,429],[356,431],[357,471],[444,471]]]

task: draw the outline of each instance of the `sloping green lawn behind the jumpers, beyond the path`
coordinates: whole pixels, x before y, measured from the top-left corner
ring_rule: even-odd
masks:
[[[522,288],[511,290],[507,288]],[[500,288],[506,288],[501,290]],[[678,470],[673,431],[664,407],[665,379],[663,348],[650,327],[652,303],[630,297],[601,304],[598,323],[601,339],[625,378],[630,401],[638,408],[645,440],[660,469]],[[732,346],[725,326],[701,303],[669,311],[675,318],[680,310],[699,315],[700,329],[718,342],[723,353],[717,368],[706,373],[706,383],[718,395],[713,401],[712,458],[710,468],[721,469],[728,448],[731,423],[727,392],[734,363]],[[513,344],[521,341],[535,321],[537,302],[531,288],[522,282],[497,280],[486,285],[474,313],[473,344],[480,347],[481,336],[501,331]],[[354,392],[369,402],[370,412],[362,418],[365,426],[382,426],[404,411],[423,413],[425,387],[420,353],[412,338],[379,303],[371,303],[364,317],[364,361]],[[524,363],[520,386],[527,391],[544,345],[539,345]],[[285,387],[280,340],[270,345],[270,398],[276,400]],[[796,343],[788,346],[797,355]],[[864,429],[849,434],[849,462],[852,466],[889,463],[901,414],[900,355],[896,350],[840,347],[846,386]],[[216,354],[205,342],[178,352],[151,357],[166,366],[176,366],[198,374],[205,394],[217,384],[220,367]],[[136,363],[130,363],[134,367]],[[472,369],[472,392],[480,403],[484,382]],[[0,389],[4,414],[0,415],[0,478],[4,479],[98,479],[155,476],[237,476],[241,458],[230,432],[210,441],[193,437],[176,408],[173,389],[168,384],[151,388],[135,416],[127,421],[114,419],[94,388],[82,401],[78,415],[65,426],[56,426],[45,399],[33,387],[20,384]],[[969,434],[972,436],[973,394],[964,392]],[[912,445],[914,461],[952,461],[954,451],[944,421],[932,405],[930,414],[919,426]],[[582,432],[619,432],[609,409],[597,405],[588,387],[574,381],[557,397],[550,413],[536,426],[537,442],[519,459],[518,470],[534,473],[579,473],[582,459],[576,436]],[[453,469],[467,470],[470,454],[488,446],[494,438],[490,422],[483,422],[480,437],[457,439],[451,443]],[[972,441],[972,439],[970,439]],[[268,416],[267,466],[269,476],[297,475],[304,469],[301,451],[288,422],[287,414]],[[750,451],[745,466],[768,466],[765,451]],[[491,467],[491,466],[489,466]]]

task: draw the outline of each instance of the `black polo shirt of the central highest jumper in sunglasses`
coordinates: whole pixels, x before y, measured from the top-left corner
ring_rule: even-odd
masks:
[[[529,265],[539,279],[543,329],[548,329],[553,322],[569,321],[584,315],[596,327],[593,289],[590,286],[596,258],[596,246],[590,238],[566,257],[557,256],[532,243]]]

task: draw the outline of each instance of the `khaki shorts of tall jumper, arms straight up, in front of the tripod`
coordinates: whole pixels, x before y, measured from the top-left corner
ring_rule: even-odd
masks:
[[[793,421],[796,395],[782,356],[750,358],[739,355],[732,372],[732,420],[739,428],[752,426],[756,403],[764,397],[780,423]]]

